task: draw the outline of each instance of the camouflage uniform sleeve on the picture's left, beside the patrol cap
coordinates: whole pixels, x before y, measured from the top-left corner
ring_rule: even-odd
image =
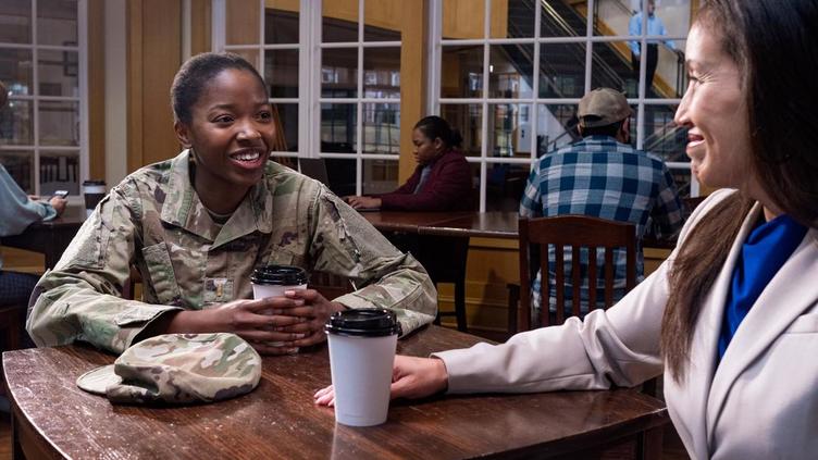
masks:
[[[26,324],[38,346],[83,340],[121,353],[151,321],[178,310],[120,297],[139,237],[139,210],[133,184],[114,187],[40,278]]]

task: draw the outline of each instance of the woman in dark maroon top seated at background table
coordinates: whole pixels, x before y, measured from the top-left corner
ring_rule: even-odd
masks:
[[[472,204],[471,169],[458,150],[462,138],[439,116],[414,125],[412,144],[418,167],[397,190],[372,197],[347,197],[355,209],[400,211],[469,211]]]

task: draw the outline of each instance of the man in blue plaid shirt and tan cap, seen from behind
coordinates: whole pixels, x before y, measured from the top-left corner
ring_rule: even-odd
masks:
[[[520,202],[520,215],[531,219],[582,214],[633,223],[636,226],[636,279],[642,281],[642,238],[646,234],[658,239],[673,236],[681,229],[683,217],[682,202],[665,163],[630,146],[632,113],[624,96],[614,89],[599,88],[585,95],[578,111],[583,139],[546,153],[534,163]],[[598,251],[600,263],[604,254],[604,251]],[[584,272],[587,265],[585,251],[582,258],[581,270]],[[549,250],[548,259],[551,265],[549,283],[554,286],[553,250]],[[570,251],[566,252],[565,260],[568,271]],[[624,250],[616,251],[615,261],[614,299],[619,300],[624,296]],[[598,276],[604,279],[605,274]],[[535,308],[540,307],[541,283],[542,275],[537,273],[531,293]],[[570,281],[567,281],[567,309],[571,303],[570,287]],[[581,293],[582,300],[586,301],[587,283]],[[549,300],[550,310],[555,311],[556,300]],[[598,306],[603,306],[603,300]]]

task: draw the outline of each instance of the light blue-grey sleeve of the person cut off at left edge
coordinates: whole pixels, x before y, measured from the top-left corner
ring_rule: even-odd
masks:
[[[28,199],[14,178],[0,165],[0,236],[20,235],[34,222],[57,216],[51,204]]]

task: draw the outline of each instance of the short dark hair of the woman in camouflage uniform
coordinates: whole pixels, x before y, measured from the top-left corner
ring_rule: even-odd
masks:
[[[256,67],[238,54],[231,52],[205,52],[187,60],[176,72],[171,85],[171,107],[176,121],[189,124],[194,104],[201,97],[201,92],[210,80],[222,71],[235,69],[251,73],[264,88],[269,98],[267,84]]]

